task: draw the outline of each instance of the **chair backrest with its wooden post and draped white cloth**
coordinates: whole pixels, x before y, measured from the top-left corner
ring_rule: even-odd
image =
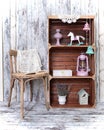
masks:
[[[41,59],[36,49],[10,50],[10,72],[36,73],[41,71]]]

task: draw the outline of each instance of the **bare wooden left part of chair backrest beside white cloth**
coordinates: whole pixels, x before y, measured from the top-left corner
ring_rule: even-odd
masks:
[[[14,73],[17,72],[17,68],[16,68],[16,58],[17,58],[17,51],[16,50],[10,50],[9,51],[9,55],[10,55],[10,73]]]

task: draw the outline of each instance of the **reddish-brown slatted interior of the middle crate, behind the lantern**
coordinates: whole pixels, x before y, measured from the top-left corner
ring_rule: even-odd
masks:
[[[79,54],[86,52],[87,47],[53,47],[49,50],[49,73],[52,75],[53,70],[71,69],[73,76],[76,75],[77,57]],[[95,60],[94,55],[88,56],[89,58],[89,76],[95,74]]]

